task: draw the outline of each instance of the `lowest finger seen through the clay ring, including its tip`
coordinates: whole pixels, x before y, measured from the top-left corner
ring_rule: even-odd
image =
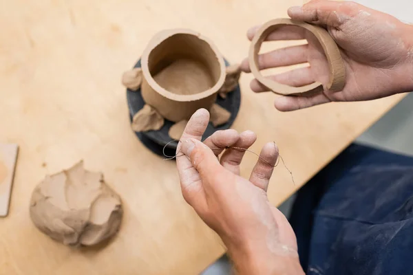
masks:
[[[276,74],[275,76],[268,76],[268,78],[277,83],[292,87],[301,87],[315,82],[313,72],[311,72],[311,67],[293,69],[282,74]],[[255,91],[255,93],[270,90],[258,82],[255,78],[251,80],[250,87],[253,91]]]

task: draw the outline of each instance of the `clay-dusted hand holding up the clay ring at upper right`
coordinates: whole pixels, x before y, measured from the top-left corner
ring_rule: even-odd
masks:
[[[343,91],[324,91],[313,96],[280,96],[275,107],[293,111],[330,101],[371,100],[413,90],[413,26],[353,2],[315,0],[293,7],[288,15],[295,20],[321,25],[335,39],[346,66]],[[253,39],[257,28],[248,30]],[[260,55],[260,69],[310,63],[310,67],[269,76],[293,87],[315,81],[326,85],[328,62],[321,45],[310,32],[286,26],[271,33],[268,41],[307,39],[308,45],[286,47]],[[242,70],[250,72],[248,61]],[[251,82],[255,92],[268,91],[257,80]]]

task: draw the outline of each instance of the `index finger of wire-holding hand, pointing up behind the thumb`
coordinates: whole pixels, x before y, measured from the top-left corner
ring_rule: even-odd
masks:
[[[182,195],[195,210],[205,207],[206,198],[200,175],[197,170],[193,168],[189,158],[184,155],[182,156],[181,147],[182,142],[190,138],[201,140],[208,123],[209,112],[206,109],[195,111],[184,129],[184,133],[182,133],[181,142],[178,143],[178,147],[176,148],[176,166],[180,177]]]

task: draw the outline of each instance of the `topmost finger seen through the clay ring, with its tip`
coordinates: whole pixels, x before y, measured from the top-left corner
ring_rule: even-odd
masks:
[[[253,40],[257,30],[261,28],[261,25],[257,25],[246,32],[248,40]],[[277,40],[299,40],[305,39],[306,30],[295,25],[286,25],[277,28],[274,32],[271,32],[266,37],[265,41],[277,41]]]

